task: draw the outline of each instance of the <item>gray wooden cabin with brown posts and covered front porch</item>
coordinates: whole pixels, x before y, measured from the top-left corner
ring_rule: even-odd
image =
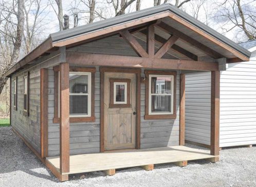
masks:
[[[53,33],[5,74],[11,126],[60,181],[216,162],[220,71],[249,57],[170,4]],[[209,151],[185,146],[185,78],[198,71],[212,77]]]

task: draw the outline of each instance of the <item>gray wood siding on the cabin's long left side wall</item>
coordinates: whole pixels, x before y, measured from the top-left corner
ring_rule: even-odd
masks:
[[[36,62],[40,63],[45,58],[41,58]],[[11,95],[11,126],[19,132],[31,146],[41,153],[40,143],[40,70],[52,65],[58,61],[58,56],[52,57],[39,65],[29,65],[25,69],[12,75],[12,95]],[[24,115],[24,80],[23,77],[29,71],[29,116]],[[13,108],[14,84],[13,80],[17,76],[17,111]]]

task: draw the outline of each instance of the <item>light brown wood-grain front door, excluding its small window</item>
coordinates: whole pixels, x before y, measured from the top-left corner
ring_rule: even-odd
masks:
[[[136,74],[105,73],[104,75],[104,145],[105,150],[136,148]],[[109,108],[109,78],[131,79],[130,108]]]

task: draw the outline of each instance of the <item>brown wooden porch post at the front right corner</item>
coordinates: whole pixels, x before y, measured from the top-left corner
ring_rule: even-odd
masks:
[[[220,154],[220,71],[211,72],[211,155]]]

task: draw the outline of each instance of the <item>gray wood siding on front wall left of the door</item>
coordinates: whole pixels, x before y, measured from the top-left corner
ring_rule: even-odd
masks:
[[[53,123],[54,73],[49,70],[48,155],[60,154],[60,124]],[[95,73],[95,122],[70,123],[70,155],[100,152],[100,72]]]

